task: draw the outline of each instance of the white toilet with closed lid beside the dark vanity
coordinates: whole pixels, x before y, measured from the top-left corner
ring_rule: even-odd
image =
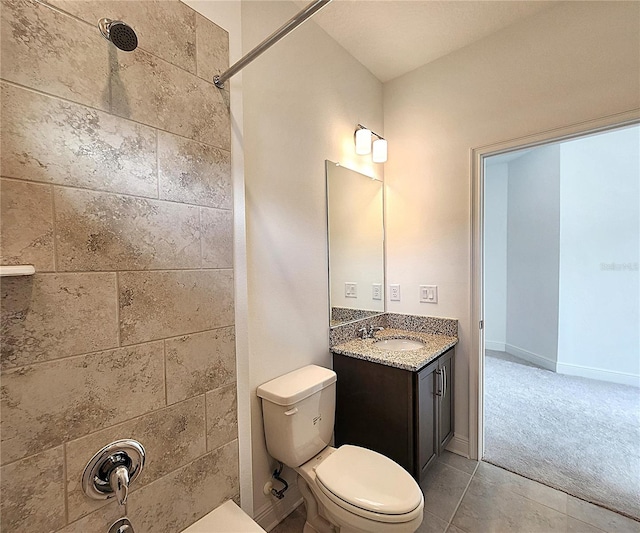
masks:
[[[336,373],[309,365],[257,390],[269,454],[293,468],[307,509],[304,533],[413,533],[424,497],[400,465],[359,446],[329,446]]]

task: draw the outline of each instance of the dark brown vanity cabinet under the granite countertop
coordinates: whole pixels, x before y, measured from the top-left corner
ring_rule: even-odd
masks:
[[[453,356],[412,372],[334,353],[336,446],[377,451],[420,482],[453,437]]]

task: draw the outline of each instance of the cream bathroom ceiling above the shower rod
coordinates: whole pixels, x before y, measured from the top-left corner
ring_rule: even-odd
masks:
[[[308,1],[296,1],[304,6]],[[386,82],[463,48],[553,1],[333,0],[313,20]]]

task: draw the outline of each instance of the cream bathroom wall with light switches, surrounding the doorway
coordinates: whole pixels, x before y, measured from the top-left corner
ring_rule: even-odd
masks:
[[[384,86],[392,312],[460,319],[458,441],[469,436],[471,149],[637,109],[637,2],[567,2]],[[439,286],[420,304],[418,285]],[[428,307],[427,307],[428,306]]]

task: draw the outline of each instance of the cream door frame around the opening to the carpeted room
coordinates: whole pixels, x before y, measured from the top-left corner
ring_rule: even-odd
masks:
[[[640,109],[526,137],[472,148],[471,157],[471,354],[469,358],[469,456],[484,455],[484,160],[487,157],[566,141],[640,123]]]

